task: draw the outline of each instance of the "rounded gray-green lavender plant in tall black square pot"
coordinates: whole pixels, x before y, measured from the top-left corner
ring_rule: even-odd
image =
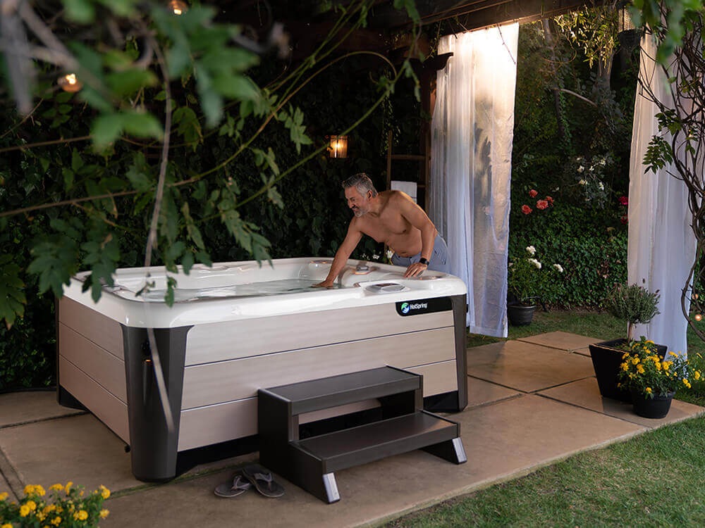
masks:
[[[605,307],[615,318],[627,323],[627,337],[611,339],[590,345],[590,357],[595,369],[595,377],[600,394],[607,398],[631,402],[632,396],[625,387],[618,386],[618,375],[622,356],[630,351],[633,343],[634,326],[646,325],[658,315],[658,290],[651,292],[638,284],[620,284],[606,299]],[[667,346],[655,345],[656,353],[663,358]]]

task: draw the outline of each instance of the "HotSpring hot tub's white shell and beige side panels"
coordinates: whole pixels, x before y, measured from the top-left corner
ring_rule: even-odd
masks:
[[[194,291],[281,279],[319,282],[328,274],[331,261],[291,258],[273,260],[273,267],[256,262],[218,263],[213,268],[197,265],[190,275],[175,277],[178,288]],[[85,274],[79,274],[59,301],[60,390],[78,398],[131,444],[125,335],[147,327],[166,332],[190,327],[181,352],[178,451],[256,434],[260,388],[390,365],[422,374],[424,396],[457,391],[458,379],[465,379],[464,360],[462,366],[458,363],[456,328],[462,325],[464,359],[464,313],[459,323],[453,310],[401,317],[396,306],[464,296],[465,284],[438,272],[404,279],[404,268],[377,263],[367,263],[376,268],[372,272],[356,273],[359,264],[362,261],[348,261],[341,274],[343,287],[338,289],[199,298],[171,308],[135,298],[144,284],[144,268],[118,270],[115,287],[104,288],[99,303],[93,303],[90,291],[81,291]],[[152,268],[150,274],[155,287],[163,288],[164,268]],[[379,283],[404,289],[377,293],[369,287]],[[134,357],[135,351],[130,353]],[[332,414],[369,406],[374,402]],[[321,413],[303,416],[302,422],[323,417]]]

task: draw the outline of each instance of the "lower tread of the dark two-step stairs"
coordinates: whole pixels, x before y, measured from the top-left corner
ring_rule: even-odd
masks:
[[[459,434],[455,422],[417,411],[291,444],[322,460],[324,471],[330,472],[451,440]]]

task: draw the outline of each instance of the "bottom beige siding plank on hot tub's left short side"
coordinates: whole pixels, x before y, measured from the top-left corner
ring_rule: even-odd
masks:
[[[106,391],[63,356],[59,356],[59,379],[61,385],[91,413],[130,444],[128,406],[125,403]]]

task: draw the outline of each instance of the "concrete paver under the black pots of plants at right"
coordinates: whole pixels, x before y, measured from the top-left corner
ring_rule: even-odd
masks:
[[[705,413],[705,408],[686,403],[685,401],[673,400],[666,417],[659,419],[643,418],[634,413],[631,403],[600,396],[597,379],[594,377],[554,387],[538,394],[650,428],[680,422]]]

